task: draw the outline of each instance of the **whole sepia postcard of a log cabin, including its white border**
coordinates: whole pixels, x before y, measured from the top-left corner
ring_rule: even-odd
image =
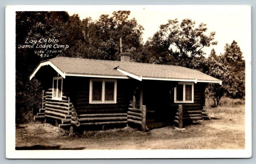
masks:
[[[7,158],[251,157],[249,5],[7,6],[6,35]]]

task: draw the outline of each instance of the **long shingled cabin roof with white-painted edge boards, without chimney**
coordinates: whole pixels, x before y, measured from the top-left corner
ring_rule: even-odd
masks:
[[[50,65],[63,78],[66,76],[84,76],[100,78],[135,78],[137,80],[170,80],[189,82],[213,82],[221,80],[200,71],[173,65],[147,64],[124,61],[109,61],[56,57],[41,62],[31,74],[32,79],[41,66]]]

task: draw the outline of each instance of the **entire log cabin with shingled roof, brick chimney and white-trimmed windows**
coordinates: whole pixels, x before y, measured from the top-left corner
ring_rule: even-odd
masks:
[[[205,87],[219,83],[200,71],[173,65],[55,57],[42,61],[30,76],[41,81],[45,118],[59,127],[126,125],[140,130],[208,117]],[[207,115],[206,115],[207,114]]]

